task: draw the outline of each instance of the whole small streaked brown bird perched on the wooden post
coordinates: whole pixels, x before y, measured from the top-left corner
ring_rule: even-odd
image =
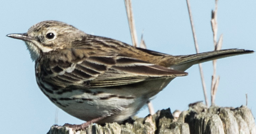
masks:
[[[226,49],[172,56],[136,48],[115,39],[86,34],[58,21],[43,21],[27,33],[8,34],[25,41],[35,61],[42,92],[67,113],[91,123],[121,123],[190,66],[251,50]]]

